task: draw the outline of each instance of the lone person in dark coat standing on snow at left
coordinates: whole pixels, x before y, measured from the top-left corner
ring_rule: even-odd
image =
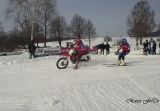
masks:
[[[36,46],[34,45],[34,40],[31,40],[31,42],[29,42],[28,50],[29,50],[29,53],[30,53],[30,56],[29,56],[30,59],[32,59],[32,56],[33,56],[33,58],[35,58]]]

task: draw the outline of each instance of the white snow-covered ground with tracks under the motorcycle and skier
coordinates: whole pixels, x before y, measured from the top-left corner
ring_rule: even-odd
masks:
[[[119,67],[113,53],[91,55],[78,70],[57,69],[59,56],[2,56],[0,111],[160,111],[160,55],[141,53]]]

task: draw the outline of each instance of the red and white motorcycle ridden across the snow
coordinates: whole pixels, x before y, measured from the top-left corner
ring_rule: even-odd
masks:
[[[67,49],[68,50],[68,49]],[[76,54],[78,51],[74,49],[69,49],[68,51],[62,53],[62,57],[58,59],[56,66],[58,69],[65,69],[67,68],[69,62],[72,64],[76,64]],[[88,62],[91,59],[89,53],[84,54],[81,58],[80,61],[86,61]]]

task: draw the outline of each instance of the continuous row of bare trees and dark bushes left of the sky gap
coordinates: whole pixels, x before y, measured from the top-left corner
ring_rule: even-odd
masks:
[[[90,41],[96,37],[96,28],[90,19],[75,14],[67,23],[57,11],[56,0],[7,0],[7,4],[6,19],[14,19],[15,25],[12,31],[5,32],[0,23],[0,49],[25,47],[32,39],[37,46],[43,42],[46,47],[47,41],[55,40],[61,47],[63,39],[87,37]]]

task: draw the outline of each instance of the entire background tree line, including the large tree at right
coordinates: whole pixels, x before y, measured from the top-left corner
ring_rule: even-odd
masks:
[[[88,38],[90,46],[91,38],[96,37],[96,28],[91,19],[87,20],[79,14],[75,14],[66,22],[64,16],[57,11],[56,0],[6,0],[6,19],[14,19],[14,28],[5,32],[0,23],[0,50],[14,49],[18,45],[25,47],[30,40],[37,43],[47,41],[61,42],[64,39],[74,37]],[[142,38],[148,37],[156,28],[155,12],[151,9],[147,0],[138,1],[131,9],[127,17],[127,33],[136,39],[136,45],[142,44]],[[160,24],[157,25],[160,30]]]

